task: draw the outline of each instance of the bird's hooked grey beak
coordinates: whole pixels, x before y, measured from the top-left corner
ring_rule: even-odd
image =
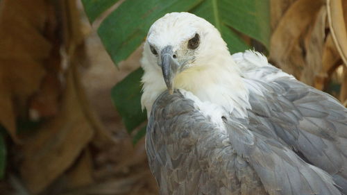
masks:
[[[178,62],[174,58],[174,51],[172,51],[172,46],[165,46],[161,52],[162,56],[162,76],[164,77],[165,84],[167,84],[167,89],[169,93],[174,92],[174,78],[178,70]]]

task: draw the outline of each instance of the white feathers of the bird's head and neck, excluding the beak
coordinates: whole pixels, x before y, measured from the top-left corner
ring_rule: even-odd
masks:
[[[196,35],[198,46],[189,48],[189,40]],[[148,115],[158,95],[167,90],[162,73],[162,51],[168,46],[170,55],[174,56],[171,60],[178,65],[174,88],[192,92],[201,101],[221,105],[228,112],[234,109],[244,112],[246,105],[238,104],[248,103],[248,92],[219,31],[201,17],[172,12],[151,26],[144,44],[141,101]]]

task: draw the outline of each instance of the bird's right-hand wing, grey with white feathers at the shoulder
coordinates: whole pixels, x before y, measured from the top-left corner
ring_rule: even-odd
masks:
[[[347,194],[347,110],[334,97],[268,64],[259,53],[233,56],[250,93],[251,130],[291,146],[332,175]]]

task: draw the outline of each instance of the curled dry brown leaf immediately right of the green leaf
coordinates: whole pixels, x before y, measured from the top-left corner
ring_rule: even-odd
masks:
[[[322,5],[322,1],[316,0],[295,1],[285,12],[275,31],[273,31],[270,41],[270,58],[275,65],[289,72],[289,74],[297,71],[296,67],[299,65],[290,63],[289,58],[292,58],[293,61],[294,57],[303,56],[298,53],[301,50],[298,49],[301,37],[307,31],[307,26],[313,21],[312,15],[316,15]],[[293,55],[294,51],[295,56]],[[294,74],[294,76],[300,75]]]

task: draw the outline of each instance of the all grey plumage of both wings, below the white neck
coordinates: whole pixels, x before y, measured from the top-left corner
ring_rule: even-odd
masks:
[[[237,55],[251,109],[247,119],[226,116],[227,133],[180,92],[153,104],[146,151],[160,194],[347,194],[346,108],[254,65],[267,63],[262,56]]]

